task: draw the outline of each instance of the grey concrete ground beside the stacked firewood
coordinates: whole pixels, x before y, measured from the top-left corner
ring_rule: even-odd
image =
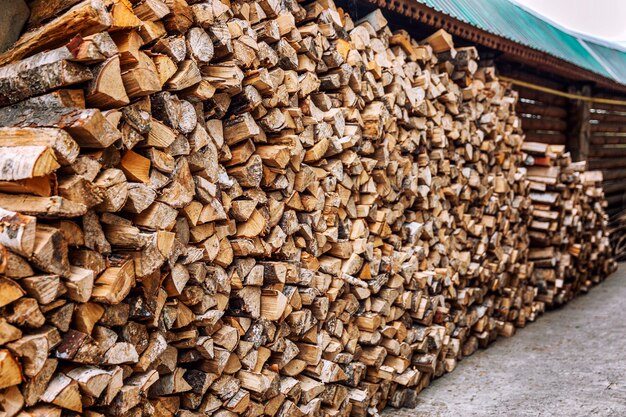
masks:
[[[393,417],[626,416],[626,263],[604,283],[459,363]]]

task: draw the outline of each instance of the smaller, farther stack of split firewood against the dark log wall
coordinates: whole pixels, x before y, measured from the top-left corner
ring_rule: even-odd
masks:
[[[524,143],[533,202],[529,258],[537,299],[563,304],[615,269],[602,173],[572,163],[563,145]]]

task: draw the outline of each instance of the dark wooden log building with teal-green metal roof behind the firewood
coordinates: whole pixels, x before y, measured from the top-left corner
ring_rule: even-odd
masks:
[[[416,38],[443,28],[476,45],[517,84],[526,140],[564,144],[602,170],[608,213],[626,207],[626,52],[569,33],[508,0],[358,0],[352,15],[382,8]],[[418,24],[416,24],[418,23]],[[491,64],[492,62],[488,62]]]

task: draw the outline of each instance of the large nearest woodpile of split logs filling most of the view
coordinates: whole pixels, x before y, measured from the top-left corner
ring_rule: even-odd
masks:
[[[541,312],[517,94],[475,48],[329,0],[31,7],[3,415],[375,415]]]

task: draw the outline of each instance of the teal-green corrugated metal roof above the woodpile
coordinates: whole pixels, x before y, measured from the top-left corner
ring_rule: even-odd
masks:
[[[626,53],[567,32],[509,0],[417,0],[438,12],[626,85]]]

